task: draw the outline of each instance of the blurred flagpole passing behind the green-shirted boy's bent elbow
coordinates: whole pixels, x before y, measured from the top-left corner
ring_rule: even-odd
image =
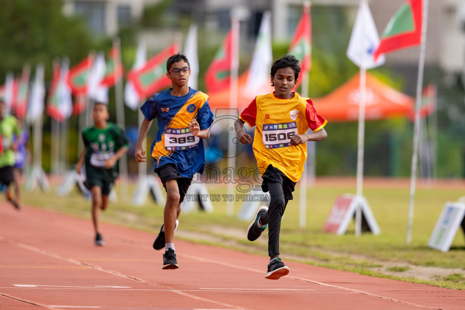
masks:
[[[116,105],[116,122],[126,131],[124,103],[123,103],[123,77],[117,76],[119,68],[116,64],[121,64],[121,40],[119,37],[113,38],[113,49],[118,51],[118,59],[113,54],[113,71],[115,77],[115,105]],[[127,186],[127,155],[126,153],[120,157],[120,188],[121,199],[127,200],[129,191]]]

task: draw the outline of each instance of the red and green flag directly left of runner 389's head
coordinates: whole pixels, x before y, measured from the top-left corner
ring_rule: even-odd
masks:
[[[178,43],[174,42],[165,50],[148,59],[144,67],[127,73],[127,79],[133,82],[141,98],[150,98],[155,92],[171,86],[171,80],[165,74],[166,60],[178,52]]]

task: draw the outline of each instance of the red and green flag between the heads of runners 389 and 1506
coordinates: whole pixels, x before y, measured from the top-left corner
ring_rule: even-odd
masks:
[[[207,92],[218,92],[229,87],[231,79],[231,47],[233,30],[231,29],[216,52],[212,63],[205,72],[205,87]]]

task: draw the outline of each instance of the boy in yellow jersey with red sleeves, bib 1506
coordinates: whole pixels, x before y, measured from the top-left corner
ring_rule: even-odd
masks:
[[[299,78],[299,60],[285,55],[271,67],[274,92],[255,97],[240,114],[234,126],[239,141],[251,143],[243,125],[255,128],[253,153],[262,173],[263,191],[270,192],[270,206],[261,207],[247,230],[247,238],[256,240],[268,226],[268,255],[270,263],[267,279],[277,280],[289,273],[279,256],[281,217],[297,181],[302,177],[307,158],[306,141],[326,139],[323,127],[327,121],[315,111],[312,101],[292,92]],[[312,133],[306,133],[308,129]]]

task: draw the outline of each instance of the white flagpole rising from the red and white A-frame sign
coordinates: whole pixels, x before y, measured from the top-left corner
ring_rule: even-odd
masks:
[[[368,5],[367,0],[360,0],[360,6]],[[366,19],[362,19],[363,29],[365,29]],[[359,130],[358,130],[358,151],[357,151],[357,211],[355,212],[355,236],[360,236],[362,232],[362,195],[363,195],[363,159],[365,147],[365,103],[366,103],[366,53],[365,36],[360,37],[360,95],[359,95]]]

